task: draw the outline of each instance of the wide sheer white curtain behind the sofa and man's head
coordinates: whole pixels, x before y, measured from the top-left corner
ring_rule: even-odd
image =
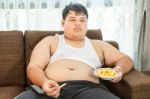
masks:
[[[117,41],[120,50],[136,61],[140,31],[137,24],[141,24],[143,1],[0,0],[0,30],[62,30],[62,9],[71,2],[78,2],[89,12],[88,29],[100,28],[104,40]]]

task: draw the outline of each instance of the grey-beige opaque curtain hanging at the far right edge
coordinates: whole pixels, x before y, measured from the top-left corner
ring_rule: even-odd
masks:
[[[150,71],[150,1],[145,0],[145,9],[139,37],[138,61],[141,71]]]

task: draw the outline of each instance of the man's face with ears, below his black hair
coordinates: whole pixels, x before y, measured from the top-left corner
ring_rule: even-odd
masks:
[[[70,39],[83,39],[87,32],[87,23],[85,14],[69,11],[66,19],[62,21],[65,36]]]

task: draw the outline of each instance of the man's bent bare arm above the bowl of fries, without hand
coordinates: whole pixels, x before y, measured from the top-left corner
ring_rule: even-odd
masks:
[[[122,74],[129,72],[133,68],[133,61],[129,56],[106,42],[101,42],[101,44],[106,65],[115,66],[114,68],[119,67]]]

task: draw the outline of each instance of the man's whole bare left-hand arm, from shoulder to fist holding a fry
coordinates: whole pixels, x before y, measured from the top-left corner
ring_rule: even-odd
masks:
[[[47,79],[44,72],[50,60],[51,42],[52,37],[46,37],[35,46],[27,67],[27,75],[35,85],[43,89],[45,94],[57,97],[60,94],[60,86],[57,82]]]

